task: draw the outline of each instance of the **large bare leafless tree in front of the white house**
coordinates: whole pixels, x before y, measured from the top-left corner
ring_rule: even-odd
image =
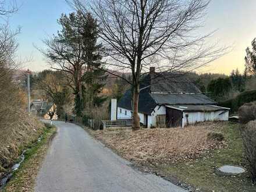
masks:
[[[223,49],[205,46],[211,35],[198,35],[209,0],[73,0],[83,13],[91,9],[99,23],[105,61],[131,72],[133,130],[140,129],[138,96],[141,76],[151,66],[159,72],[190,71],[218,58]],[[109,71],[108,71],[109,72]],[[112,72],[109,72],[112,73]],[[115,74],[115,73],[112,73]],[[120,78],[122,78],[120,76]]]

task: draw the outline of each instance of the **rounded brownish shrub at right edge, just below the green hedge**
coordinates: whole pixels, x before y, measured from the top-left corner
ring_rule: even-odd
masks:
[[[248,123],[256,119],[256,103],[244,104],[239,108],[239,120],[241,123]]]

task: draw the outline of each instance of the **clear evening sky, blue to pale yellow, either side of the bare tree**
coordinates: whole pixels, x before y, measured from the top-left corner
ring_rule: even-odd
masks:
[[[22,27],[22,33],[17,37],[20,47],[18,54],[23,58],[33,55],[33,62],[25,68],[39,71],[49,68],[43,56],[33,47],[42,47],[42,39],[56,33],[59,29],[56,20],[61,13],[69,13],[71,9],[65,0],[19,0],[22,4],[18,13],[10,17],[12,29]],[[256,1],[255,0],[212,0],[208,8],[203,33],[216,31],[212,41],[219,45],[233,46],[233,50],[211,63],[200,72],[215,72],[229,74],[237,67],[243,70],[246,47],[256,37]]]

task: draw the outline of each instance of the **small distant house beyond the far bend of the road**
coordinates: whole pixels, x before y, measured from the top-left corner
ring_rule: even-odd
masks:
[[[52,102],[48,103],[46,101],[35,100],[31,102],[30,112],[37,116],[42,116],[44,119],[50,119],[48,112],[56,109],[56,105],[52,104]],[[54,120],[58,119],[58,116],[55,114],[53,117]]]

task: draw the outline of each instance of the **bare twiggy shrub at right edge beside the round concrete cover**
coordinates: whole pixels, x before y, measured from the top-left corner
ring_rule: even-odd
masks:
[[[243,130],[244,158],[248,165],[251,180],[256,183],[256,121],[247,123]]]

